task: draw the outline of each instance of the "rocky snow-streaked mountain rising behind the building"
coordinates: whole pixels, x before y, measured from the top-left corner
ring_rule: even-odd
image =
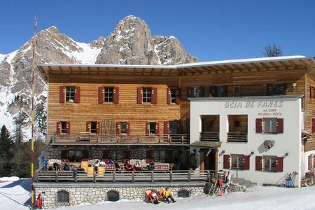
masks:
[[[56,27],[36,35],[36,63],[172,65],[198,62],[174,36],[151,36],[144,20],[127,16],[106,38],[79,43]],[[31,137],[32,39],[8,55],[0,54],[0,126],[18,141]],[[47,87],[35,73],[35,134],[45,139]]]

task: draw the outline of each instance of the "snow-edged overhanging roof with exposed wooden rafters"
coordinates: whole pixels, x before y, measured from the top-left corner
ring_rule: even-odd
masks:
[[[36,64],[47,80],[50,74],[92,74],[123,76],[190,76],[212,73],[315,69],[313,57],[285,56],[232,59],[179,65],[118,65],[118,64]]]

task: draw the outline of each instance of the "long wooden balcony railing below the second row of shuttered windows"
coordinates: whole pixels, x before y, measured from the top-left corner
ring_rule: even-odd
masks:
[[[184,134],[52,134],[51,144],[189,144]]]

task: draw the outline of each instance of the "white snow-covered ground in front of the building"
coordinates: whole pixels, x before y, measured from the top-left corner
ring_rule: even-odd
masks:
[[[8,181],[7,181],[8,180]],[[0,178],[0,209],[29,209],[29,179]],[[248,193],[230,193],[223,197],[200,195],[179,198],[176,203],[147,204],[143,201],[102,202],[62,207],[57,210],[100,209],[315,209],[315,186],[308,188],[277,188],[256,186]]]

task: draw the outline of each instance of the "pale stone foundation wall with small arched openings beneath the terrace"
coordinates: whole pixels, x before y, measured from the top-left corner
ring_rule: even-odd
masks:
[[[45,192],[45,208],[57,208],[64,206],[75,206],[83,202],[98,203],[109,200],[107,193],[113,190],[119,193],[119,200],[146,200],[146,190],[165,188],[166,186],[144,186],[144,187],[102,187],[102,186],[51,186],[47,184],[41,184],[41,186],[35,186],[35,193]],[[66,191],[69,193],[69,203],[58,202],[57,193],[60,191]],[[190,197],[195,197],[204,192],[204,186],[174,186],[170,187],[173,197],[178,197],[180,190],[186,190]]]

